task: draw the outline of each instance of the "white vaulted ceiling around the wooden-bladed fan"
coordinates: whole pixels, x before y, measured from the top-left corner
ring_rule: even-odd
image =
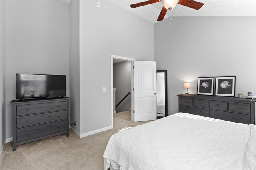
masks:
[[[100,0],[99,0],[100,1]],[[111,0],[115,4],[141,16],[142,18],[156,23],[162,9],[161,2],[131,8],[130,4],[143,2],[144,0]],[[204,3],[199,10],[194,10],[186,6],[177,5],[172,10],[172,16],[256,16],[256,0],[197,0]],[[170,16],[167,12],[165,18]]]

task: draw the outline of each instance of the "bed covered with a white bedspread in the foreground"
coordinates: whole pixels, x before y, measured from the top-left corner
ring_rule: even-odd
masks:
[[[105,170],[256,170],[256,126],[176,113],[112,135],[103,157]]]

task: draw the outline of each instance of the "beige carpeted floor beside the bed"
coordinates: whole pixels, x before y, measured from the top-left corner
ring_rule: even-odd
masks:
[[[103,170],[102,157],[108,140],[118,129],[147,123],[132,122],[131,112],[114,114],[114,128],[78,138],[70,129],[66,134],[17,146],[6,143],[0,159],[0,170]]]

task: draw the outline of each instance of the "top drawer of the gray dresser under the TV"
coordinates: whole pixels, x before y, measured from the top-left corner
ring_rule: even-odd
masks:
[[[67,102],[51,102],[17,106],[17,116],[67,109]]]

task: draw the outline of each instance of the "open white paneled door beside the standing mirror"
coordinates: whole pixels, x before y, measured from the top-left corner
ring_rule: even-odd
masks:
[[[156,62],[134,61],[134,121],[156,120]]]

